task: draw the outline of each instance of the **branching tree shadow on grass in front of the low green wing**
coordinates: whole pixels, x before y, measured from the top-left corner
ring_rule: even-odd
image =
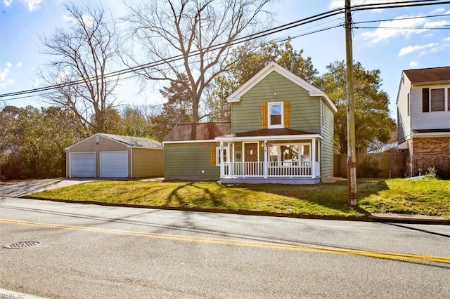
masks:
[[[186,198],[183,196],[182,192],[184,192],[187,188],[197,188],[201,191],[201,194],[195,194],[195,198]],[[186,190],[188,192],[188,190]],[[172,204],[176,204],[177,206],[183,207],[198,207],[201,208],[203,206],[207,207],[224,207],[224,201],[221,201],[217,197],[217,194],[210,192],[206,188],[195,185],[195,182],[188,182],[186,184],[180,185],[176,187],[172,192],[170,192],[167,197],[167,201],[165,206],[172,206]]]

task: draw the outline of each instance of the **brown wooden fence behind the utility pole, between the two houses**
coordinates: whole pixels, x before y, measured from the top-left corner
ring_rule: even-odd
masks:
[[[356,176],[359,178],[403,178],[404,150],[377,154],[356,154]],[[335,176],[347,177],[347,154],[335,154]]]

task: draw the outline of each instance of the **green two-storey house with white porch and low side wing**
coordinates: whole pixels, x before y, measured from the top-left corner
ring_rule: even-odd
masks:
[[[333,175],[337,109],[319,88],[271,62],[227,100],[231,124],[197,124],[195,140],[192,124],[167,135],[167,179],[309,184]]]

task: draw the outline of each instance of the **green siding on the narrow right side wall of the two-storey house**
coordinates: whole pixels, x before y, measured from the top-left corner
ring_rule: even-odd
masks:
[[[321,126],[321,180],[328,180],[333,175],[334,169],[334,113],[325,104],[325,126]]]

